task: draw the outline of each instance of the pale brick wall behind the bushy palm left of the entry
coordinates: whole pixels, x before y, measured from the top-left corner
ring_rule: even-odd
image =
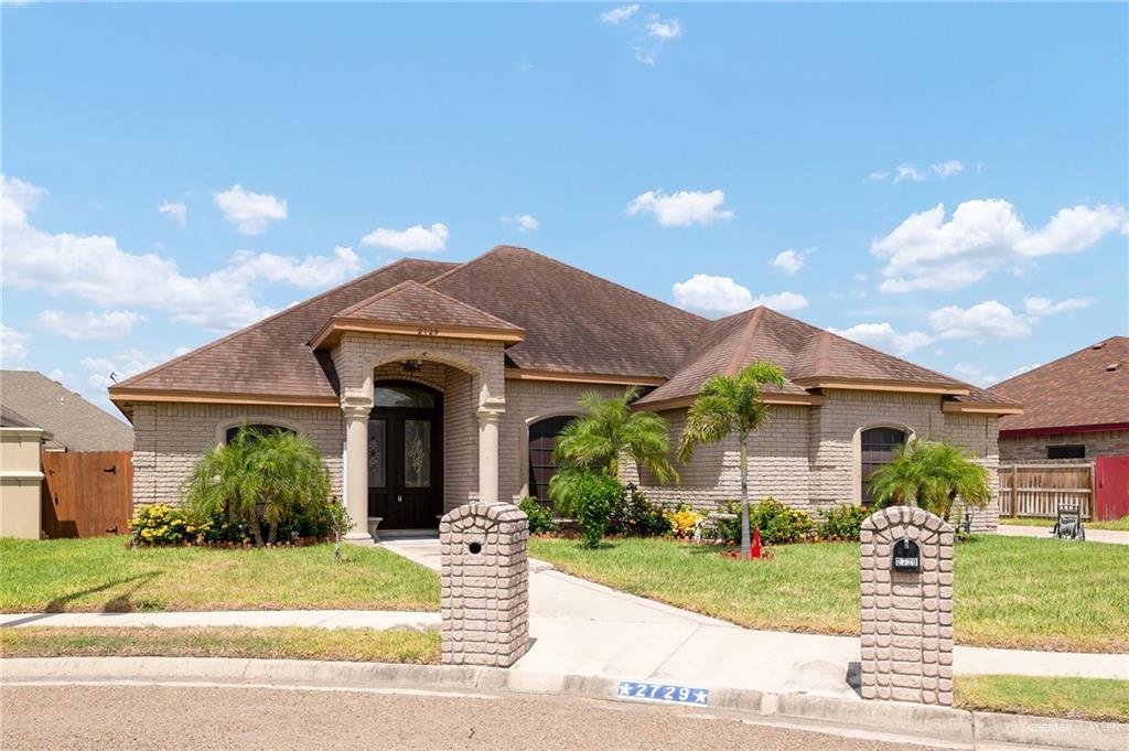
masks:
[[[344,419],[332,407],[137,404],[133,408],[133,504],[177,505],[181,486],[224,431],[247,422],[281,425],[309,436],[341,492]]]

